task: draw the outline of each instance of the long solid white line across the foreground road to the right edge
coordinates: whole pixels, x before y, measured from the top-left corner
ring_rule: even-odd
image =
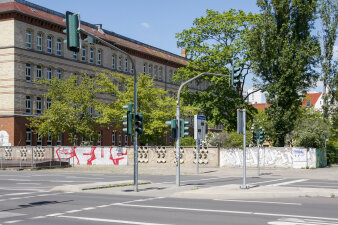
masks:
[[[185,211],[215,212],[215,213],[229,213],[229,214],[246,214],[246,215],[274,216],[274,217],[294,217],[294,218],[320,219],[320,220],[338,221],[338,218],[326,218],[326,217],[302,216],[302,215],[289,215],[289,214],[278,214],[278,213],[249,212],[249,211],[231,211],[231,210],[217,210],[217,209],[198,209],[198,208],[182,208],[182,207],[169,207],[169,206],[158,206],[158,205],[130,205],[130,204],[122,204],[122,203],[116,203],[115,205],[124,206],[124,207],[137,207],[137,208],[171,209],[171,210],[181,210],[181,211],[185,210]]]

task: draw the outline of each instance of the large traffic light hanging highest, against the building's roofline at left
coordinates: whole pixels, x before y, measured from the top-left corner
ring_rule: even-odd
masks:
[[[63,20],[66,23],[67,28],[63,30],[67,34],[67,49],[73,52],[79,52],[80,49],[80,34],[79,28],[79,15],[72,12],[66,12],[66,19]]]

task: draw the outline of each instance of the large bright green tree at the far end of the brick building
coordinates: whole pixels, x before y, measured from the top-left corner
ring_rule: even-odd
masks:
[[[229,78],[203,76],[197,80],[208,83],[202,91],[189,92],[183,98],[197,106],[211,125],[222,124],[227,130],[236,128],[236,109],[246,107],[242,97],[245,78],[251,69],[248,58],[247,34],[257,16],[234,9],[227,12],[206,10],[206,16],[196,18],[190,29],[176,34],[177,45],[184,48],[190,59],[187,67],[180,68],[174,79],[178,82],[201,72],[230,75],[232,66],[238,66],[242,83],[234,90]]]

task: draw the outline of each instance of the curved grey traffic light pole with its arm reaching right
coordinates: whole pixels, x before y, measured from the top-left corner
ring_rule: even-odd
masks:
[[[229,75],[224,75],[224,74],[218,74],[218,73],[207,73],[203,72],[200,73],[193,78],[184,81],[180,87],[178,88],[177,92],[177,106],[176,106],[176,120],[177,120],[177,131],[176,131],[176,186],[180,186],[180,165],[181,165],[181,152],[180,152],[180,134],[181,134],[181,123],[180,123],[180,96],[181,96],[181,91],[182,88],[190,83],[191,81],[203,76],[203,75],[214,75],[214,76],[222,76],[222,77],[230,77]]]

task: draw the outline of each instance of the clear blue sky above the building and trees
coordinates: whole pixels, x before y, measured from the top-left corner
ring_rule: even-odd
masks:
[[[28,0],[57,12],[80,13],[89,23],[180,55],[175,34],[189,29],[206,9],[259,12],[256,0]],[[249,79],[250,80],[250,79]],[[252,82],[247,82],[252,86]],[[319,84],[320,85],[320,84]],[[316,91],[321,91],[320,87]]]

